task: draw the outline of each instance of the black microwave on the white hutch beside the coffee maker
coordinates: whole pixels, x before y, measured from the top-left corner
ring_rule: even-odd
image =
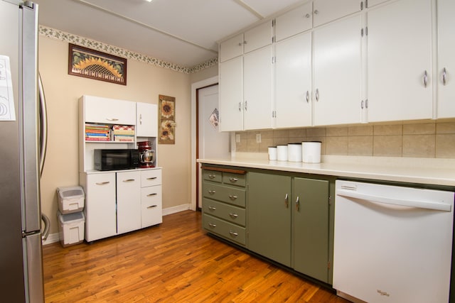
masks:
[[[139,150],[93,150],[95,170],[129,170],[139,167]]]

